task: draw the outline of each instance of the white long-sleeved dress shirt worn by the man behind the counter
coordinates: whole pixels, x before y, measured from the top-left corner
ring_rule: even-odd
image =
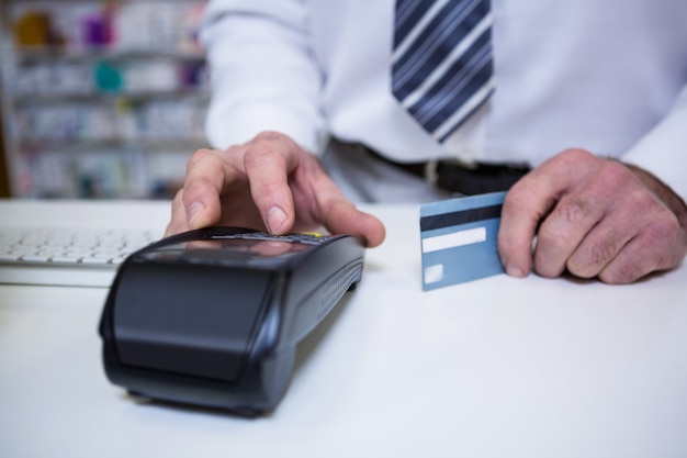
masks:
[[[496,91],[437,144],[391,93],[394,0],[213,0],[203,29],[216,147],[279,131],[398,161],[537,166],[583,147],[687,197],[687,1],[492,0]]]

